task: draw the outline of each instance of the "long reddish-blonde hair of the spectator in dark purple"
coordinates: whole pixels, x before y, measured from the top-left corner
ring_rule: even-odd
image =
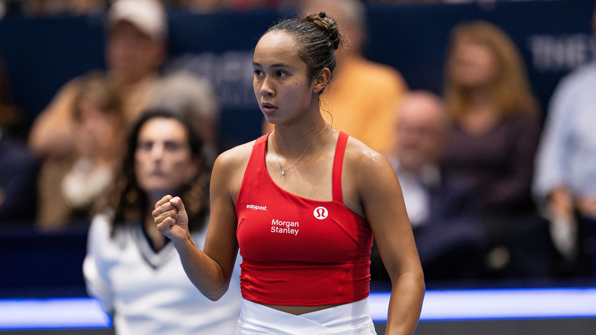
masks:
[[[513,41],[494,24],[471,21],[456,26],[451,35],[445,73],[445,105],[452,119],[460,120],[469,104],[467,91],[455,83],[452,73],[455,47],[464,39],[486,46],[495,59],[498,71],[493,85],[496,112],[501,117],[518,113],[537,113],[538,103],[530,89],[522,57]]]

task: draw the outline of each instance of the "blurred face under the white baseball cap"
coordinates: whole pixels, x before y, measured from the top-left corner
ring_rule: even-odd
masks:
[[[164,59],[163,42],[154,41],[129,23],[111,26],[106,44],[110,72],[120,85],[130,85],[159,69]]]

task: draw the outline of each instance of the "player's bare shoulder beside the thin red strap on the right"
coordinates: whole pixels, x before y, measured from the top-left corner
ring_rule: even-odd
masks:
[[[353,137],[347,140],[343,166],[350,174],[367,182],[371,178],[395,176],[387,157]]]

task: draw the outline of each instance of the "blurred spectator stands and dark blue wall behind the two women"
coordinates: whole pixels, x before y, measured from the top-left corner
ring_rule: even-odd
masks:
[[[459,2],[0,1],[0,298],[85,294],[92,218],[140,201],[145,111],[187,120],[205,171],[271,129],[252,49],[318,10],[352,41],[321,113],[392,162],[427,280],[594,278],[595,3]]]

